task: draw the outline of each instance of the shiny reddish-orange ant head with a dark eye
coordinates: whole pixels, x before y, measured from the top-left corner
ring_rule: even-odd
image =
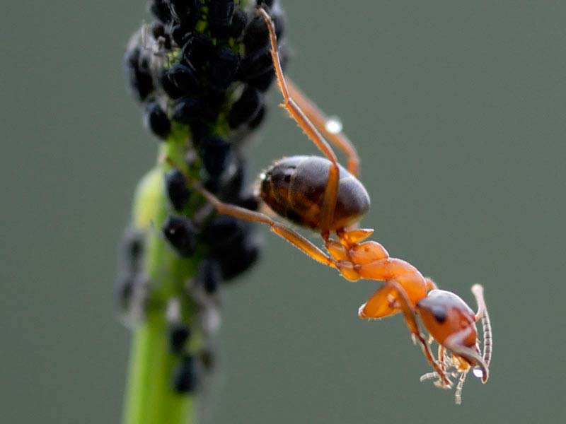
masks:
[[[417,313],[431,336],[440,344],[449,336],[470,328],[462,346],[475,347],[477,332],[475,314],[460,297],[445,290],[431,290],[417,302]]]

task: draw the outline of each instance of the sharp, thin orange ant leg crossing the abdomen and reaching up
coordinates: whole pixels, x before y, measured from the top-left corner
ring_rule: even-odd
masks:
[[[338,194],[338,178],[340,174],[340,168],[338,167],[338,162],[336,155],[332,150],[332,147],[324,139],[323,136],[317,131],[313,123],[306,117],[306,114],[301,110],[299,105],[291,98],[289,95],[289,89],[287,88],[287,82],[283,76],[283,70],[281,68],[281,62],[279,61],[279,54],[277,53],[277,37],[275,36],[275,26],[271,17],[265,11],[264,8],[258,8],[258,13],[261,14],[262,18],[267,24],[267,29],[270,32],[271,41],[271,57],[273,60],[273,66],[275,67],[275,74],[277,75],[277,83],[279,85],[279,90],[283,95],[283,107],[287,109],[287,112],[291,114],[291,117],[296,121],[297,124],[305,131],[316,147],[330,160],[332,163],[328,170],[328,183],[326,184],[326,189],[324,191],[323,205],[320,209],[320,228],[321,235],[323,239],[328,240],[330,235],[330,224],[332,223],[334,217],[334,209],[336,206],[336,197]]]

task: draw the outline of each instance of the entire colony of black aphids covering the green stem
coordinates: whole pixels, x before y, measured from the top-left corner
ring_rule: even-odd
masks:
[[[284,18],[278,1],[263,3],[271,7],[283,40]],[[125,71],[132,95],[143,109],[144,124],[163,141],[163,151],[175,151],[183,172],[199,179],[220,199],[255,210],[258,201],[249,192],[241,145],[265,119],[264,96],[275,81],[275,71],[269,31],[255,13],[257,4],[252,0],[244,4],[151,1],[153,21],[132,36]],[[285,49],[282,42],[279,45]],[[217,327],[219,287],[257,260],[260,245],[253,225],[214,216],[214,209],[187,186],[180,169],[165,171],[161,178],[168,215],[152,221],[151,225],[158,225],[153,230],[127,230],[117,297],[130,321],[161,301],[155,299],[156,281],[147,275],[148,237],[153,237],[154,230],[180,264],[198,258],[190,287],[170,296],[164,312],[170,326],[170,351],[178,358],[172,384],[176,391],[190,392],[198,386],[200,370],[214,363],[214,349],[207,338]],[[200,318],[187,318],[191,314],[183,310],[186,307],[197,310]]]

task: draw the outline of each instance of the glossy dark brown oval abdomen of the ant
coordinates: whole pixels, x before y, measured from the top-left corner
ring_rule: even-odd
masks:
[[[291,156],[277,160],[261,176],[260,197],[279,216],[313,230],[320,230],[328,173],[328,159]],[[340,182],[329,230],[357,223],[369,210],[369,194],[359,180],[340,166]]]

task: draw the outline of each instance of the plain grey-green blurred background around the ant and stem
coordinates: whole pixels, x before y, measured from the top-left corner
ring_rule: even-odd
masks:
[[[207,423],[558,423],[566,416],[564,1],[282,0],[289,75],[362,155],[363,225],[473,304],[492,377],[463,406],[401,317],[362,322],[349,283],[265,232],[224,291]],[[115,252],[156,141],[122,73],[144,0],[10,2],[0,18],[2,423],[117,423],[129,332]],[[257,172],[315,153],[275,105]]]

